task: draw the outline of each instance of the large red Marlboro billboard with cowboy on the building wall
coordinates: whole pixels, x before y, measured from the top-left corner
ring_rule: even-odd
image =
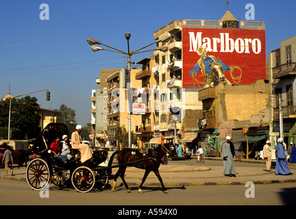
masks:
[[[265,30],[184,27],[183,88],[266,79]]]

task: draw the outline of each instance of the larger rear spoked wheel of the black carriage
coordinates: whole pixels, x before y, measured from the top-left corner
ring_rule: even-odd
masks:
[[[44,159],[33,159],[26,170],[27,183],[33,190],[42,190],[49,185],[49,166]]]

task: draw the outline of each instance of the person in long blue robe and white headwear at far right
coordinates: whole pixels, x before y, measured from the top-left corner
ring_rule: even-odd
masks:
[[[288,162],[284,153],[283,139],[277,140],[277,149],[275,151],[276,163],[275,163],[275,175],[291,175],[290,169],[288,168]]]

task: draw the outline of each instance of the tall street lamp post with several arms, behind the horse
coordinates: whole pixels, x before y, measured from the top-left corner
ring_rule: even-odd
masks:
[[[130,62],[130,59],[131,59],[132,55],[138,54],[138,53],[145,53],[145,52],[148,52],[148,51],[156,51],[156,50],[158,50],[158,49],[149,49],[149,50],[142,51],[146,47],[149,47],[152,44],[155,44],[157,42],[156,41],[156,42],[152,42],[151,44],[148,44],[147,46],[142,47],[142,48],[140,48],[140,49],[138,49],[136,51],[130,51],[130,37],[131,37],[130,33],[125,34],[125,38],[127,40],[127,53],[125,51],[121,51],[121,50],[116,49],[114,47],[110,47],[110,46],[108,46],[106,44],[103,44],[103,43],[99,42],[98,40],[94,40],[92,38],[88,38],[86,41],[88,42],[88,44],[90,44],[92,46],[91,49],[94,52],[97,52],[97,51],[100,51],[100,50],[106,50],[106,51],[111,51],[111,52],[114,52],[114,53],[121,53],[121,54],[127,55],[127,70],[130,73],[130,70],[131,70],[130,64],[132,63],[132,62]],[[108,47],[110,49],[103,49],[101,47],[94,46],[94,44],[103,45],[104,47]],[[130,90],[130,84],[127,85],[127,90]],[[129,105],[130,105],[130,103],[129,103]],[[128,107],[128,109],[129,109],[128,110],[128,120],[129,120],[128,121],[128,147],[130,148],[131,147],[131,109],[130,109],[130,107]]]

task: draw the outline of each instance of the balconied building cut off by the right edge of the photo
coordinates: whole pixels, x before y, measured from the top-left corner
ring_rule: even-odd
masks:
[[[269,104],[273,110],[272,131],[280,132],[282,108],[284,142],[296,143],[296,36],[280,42],[280,48],[269,53],[268,77],[271,81]],[[281,96],[279,103],[278,95]],[[272,139],[273,141],[275,138]]]

